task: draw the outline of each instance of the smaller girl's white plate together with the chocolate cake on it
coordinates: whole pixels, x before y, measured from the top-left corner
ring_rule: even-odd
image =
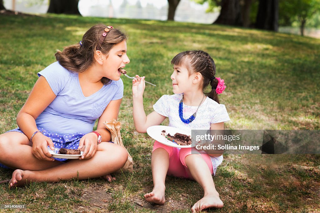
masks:
[[[191,131],[177,129],[171,126],[150,126],[148,135],[160,143],[177,148],[191,147]]]

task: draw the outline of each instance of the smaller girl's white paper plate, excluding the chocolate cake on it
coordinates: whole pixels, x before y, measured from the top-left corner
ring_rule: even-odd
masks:
[[[187,146],[181,146],[176,144],[175,142],[169,141],[166,139],[163,135],[161,135],[162,130],[165,130],[166,133],[170,133],[171,135],[174,135],[175,133],[181,133],[181,134],[186,134],[186,135],[191,135],[191,131],[186,131],[186,130],[181,130],[177,129],[171,126],[150,126],[147,129],[148,135],[155,139],[156,141],[159,141],[160,143],[170,146],[170,147],[177,147],[177,148],[190,148],[190,145]]]

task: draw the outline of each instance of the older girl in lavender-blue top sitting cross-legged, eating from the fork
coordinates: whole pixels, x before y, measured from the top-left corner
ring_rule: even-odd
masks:
[[[103,122],[117,119],[123,97],[119,69],[130,62],[126,36],[111,26],[91,27],[79,44],[55,54],[38,72],[17,129],[0,135],[0,166],[17,169],[9,187],[32,182],[88,179],[119,170],[126,150],[110,141]],[[92,132],[96,119],[98,127]],[[51,158],[47,146],[80,149],[80,159]],[[63,162],[63,160],[65,162]]]

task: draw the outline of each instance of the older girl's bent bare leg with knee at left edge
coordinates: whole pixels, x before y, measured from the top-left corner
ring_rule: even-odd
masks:
[[[60,161],[39,160],[32,154],[28,137],[19,132],[0,135],[0,163],[12,168],[39,171],[62,164]],[[53,159],[52,159],[53,160]]]

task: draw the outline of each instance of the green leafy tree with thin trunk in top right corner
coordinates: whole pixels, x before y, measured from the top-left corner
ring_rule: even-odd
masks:
[[[291,26],[294,21],[298,21],[300,34],[303,36],[307,20],[313,18],[319,10],[320,0],[279,0],[279,23],[283,26]]]

